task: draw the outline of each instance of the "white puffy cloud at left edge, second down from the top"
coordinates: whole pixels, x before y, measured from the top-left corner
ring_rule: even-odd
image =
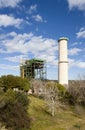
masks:
[[[19,27],[19,25],[22,23],[22,19],[19,18],[14,18],[12,16],[8,16],[8,15],[0,15],[0,27],[4,26],[15,26],[15,27]]]

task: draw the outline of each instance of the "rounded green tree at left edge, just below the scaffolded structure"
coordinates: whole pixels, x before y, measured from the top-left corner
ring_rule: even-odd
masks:
[[[27,92],[30,88],[30,82],[26,78],[21,78],[18,76],[7,75],[0,78],[0,87],[7,91],[8,89],[18,88]]]

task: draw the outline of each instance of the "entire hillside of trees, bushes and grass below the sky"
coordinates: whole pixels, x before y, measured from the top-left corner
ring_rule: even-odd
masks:
[[[70,82],[66,90],[52,81],[0,78],[0,127],[8,130],[84,130],[84,108],[85,80]]]

